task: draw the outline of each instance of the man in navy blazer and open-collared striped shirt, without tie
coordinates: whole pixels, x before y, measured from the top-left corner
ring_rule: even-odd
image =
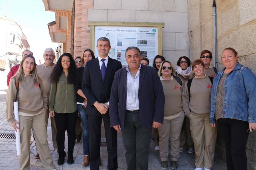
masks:
[[[163,123],[165,96],[155,68],[141,65],[140,50],[125,51],[128,66],[118,70],[111,89],[110,126],[122,129],[128,170],[148,169],[152,127]]]

